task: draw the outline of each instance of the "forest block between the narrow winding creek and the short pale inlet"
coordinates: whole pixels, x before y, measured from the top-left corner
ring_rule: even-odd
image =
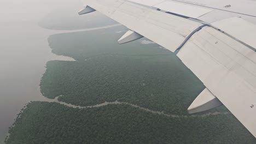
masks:
[[[172,57],[104,56],[86,62],[51,61],[41,82],[45,97],[87,106],[125,101],[152,110],[187,114],[204,88]]]

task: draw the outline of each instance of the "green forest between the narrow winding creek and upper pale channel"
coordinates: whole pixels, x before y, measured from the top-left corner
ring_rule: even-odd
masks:
[[[118,45],[116,40],[124,32],[115,32],[124,29],[52,35],[53,52],[77,61],[48,62],[40,84],[43,95],[52,99],[63,95],[59,100],[80,106],[119,100],[186,115],[204,88],[200,80],[173,53],[156,44]]]

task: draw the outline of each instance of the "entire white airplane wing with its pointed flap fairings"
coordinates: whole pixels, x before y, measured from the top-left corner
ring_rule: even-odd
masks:
[[[84,0],[130,30],[119,44],[147,37],[175,52],[206,86],[195,113],[225,105],[256,137],[256,1]]]

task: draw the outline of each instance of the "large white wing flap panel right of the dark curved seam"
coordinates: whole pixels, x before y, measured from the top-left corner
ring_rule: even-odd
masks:
[[[256,52],[204,27],[177,56],[255,136]]]

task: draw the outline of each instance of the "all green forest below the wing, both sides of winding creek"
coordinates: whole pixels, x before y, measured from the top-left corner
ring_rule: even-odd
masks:
[[[35,101],[19,113],[7,143],[255,143],[231,114],[187,115],[205,88],[171,52],[135,41],[118,45],[124,27],[51,35],[54,53],[40,87],[45,97],[88,106],[124,101],[180,117],[118,104],[73,109]],[[226,111],[225,107],[212,111]],[[183,115],[183,116],[182,116]]]

